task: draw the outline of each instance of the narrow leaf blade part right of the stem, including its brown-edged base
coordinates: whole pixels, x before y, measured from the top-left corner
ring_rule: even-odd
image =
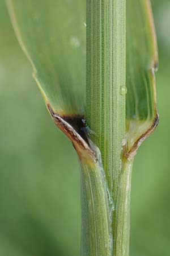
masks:
[[[131,159],[158,124],[154,74],[158,53],[149,0],[127,1],[126,46],[126,157]]]

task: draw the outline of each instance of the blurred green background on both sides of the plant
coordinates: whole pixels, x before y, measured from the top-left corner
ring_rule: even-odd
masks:
[[[170,2],[153,0],[152,6],[159,45],[160,123],[134,162],[131,256],[170,255]],[[45,108],[3,0],[0,24],[0,255],[78,256],[75,151]]]

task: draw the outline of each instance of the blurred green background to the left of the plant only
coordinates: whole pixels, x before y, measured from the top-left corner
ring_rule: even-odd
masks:
[[[0,255],[79,255],[76,153],[45,108],[5,2],[0,12]]]

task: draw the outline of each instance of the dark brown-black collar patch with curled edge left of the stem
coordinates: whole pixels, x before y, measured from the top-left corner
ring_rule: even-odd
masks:
[[[69,137],[80,158],[96,162],[96,152],[90,147],[88,135],[83,127],[81,115],[59,115],[53,111],[50,104],[47,104],[50,115],[57,127]]]

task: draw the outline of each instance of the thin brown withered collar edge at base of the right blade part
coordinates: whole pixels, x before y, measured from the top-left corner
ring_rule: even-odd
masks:
[[[158,126],[159,123],[159,115],[156,113],[156,117],[151,125],[151,127],[146,131],[146,133],[142,134],[141,137],[133,144],[133,147],[126,152],[125,158],[129,161],[134,158],[134,156],[137,154],[137,150],[139,146],[141,146],[142,142],[145,141],[145,139],[155,130],[156,126]]]

